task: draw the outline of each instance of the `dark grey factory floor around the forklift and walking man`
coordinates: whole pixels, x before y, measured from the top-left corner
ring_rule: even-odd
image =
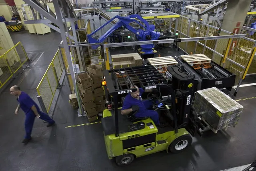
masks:
[[[23,71],[9,85],[20,84],[35,99],[35,88],[57,50],[60,35],[30,35],[22,31],[11,36],[15,42],[22,41],[26,51],[31,52],[32,65],[29,72]],[[255,93],[256,86],[242,87],[236,99],[256,96]],[[101,124],[65,128],[88,123],[85,117],[77,117],[68,94],[65,80],[54,112],[56,125],[46,128],[46,123],[36,119],[33,140],[26,146],[21,143],[24,113],[14,114],[17,102],[8,88],[0,94],[0,171],[219,171],[248,164],[256,157],[256,99],[239,101],[244,112],[236,128],[229,129],[231,137],[222,132],[208,132],[202,138],[193,138],[192,146],[183,153],[162,151],[137,158],[127,167],[117,167],[107,157]]]

